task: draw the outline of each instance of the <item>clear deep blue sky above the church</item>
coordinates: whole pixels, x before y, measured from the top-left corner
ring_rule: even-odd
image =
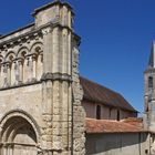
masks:
[[[33,22],[52,0],[1,0],[0,33]],[[82,38],[81,74],[123,94],[143,112],[144,78],[155,39],[155,0],[68,0]]]

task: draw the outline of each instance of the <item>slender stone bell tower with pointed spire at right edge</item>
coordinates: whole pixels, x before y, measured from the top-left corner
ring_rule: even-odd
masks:
[[[155,131],[155,42],[152,44],[148,66],[144,72],[144,126],[146,130]]]

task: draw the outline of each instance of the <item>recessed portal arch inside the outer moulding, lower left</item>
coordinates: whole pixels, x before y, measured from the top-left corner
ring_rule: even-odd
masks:
[[[4,120],[0,155],[37,155],[38,135],[31,122],[20,115]]]

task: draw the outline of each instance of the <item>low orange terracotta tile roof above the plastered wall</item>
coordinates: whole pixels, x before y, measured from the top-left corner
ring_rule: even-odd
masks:
[[[143,130],[142,121],[131,121],[130,123],[110,120],[86,118],[86,133],[137,133],[146,132]]]

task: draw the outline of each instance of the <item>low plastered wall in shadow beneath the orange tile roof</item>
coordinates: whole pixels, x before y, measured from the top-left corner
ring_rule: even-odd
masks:
[[[148,133],[86,134],[86,155],[147,155]]]

